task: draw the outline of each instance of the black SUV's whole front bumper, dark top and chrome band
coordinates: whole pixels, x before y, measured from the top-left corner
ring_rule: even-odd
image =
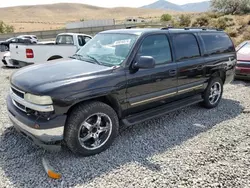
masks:
[[[63,140],[66,115],[56,116],[50,120],[28,116],[14,106],[10,96],[7,97],[7,108],[14,127],[37,145]],[[36,129],[35,125],[39,125],[39,129]]]

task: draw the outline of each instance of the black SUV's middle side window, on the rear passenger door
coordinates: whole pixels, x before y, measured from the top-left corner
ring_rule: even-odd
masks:
[[[193,34],[177,34],[174,37],[176,61],[200,56],[200,49]]]

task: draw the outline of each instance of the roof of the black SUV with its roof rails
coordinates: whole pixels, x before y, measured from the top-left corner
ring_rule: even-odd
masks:
[[[115,29],[115,30],[107,30],[100,33],[120,33],[120,34],[134,34],[134,35],[142,35],[146,33],[152,32],[166,32],[170,33],[181,33],[181,32],[223,32],[222,30],[217,29],[205,29],[205,28],[143,28],[143,29]]]

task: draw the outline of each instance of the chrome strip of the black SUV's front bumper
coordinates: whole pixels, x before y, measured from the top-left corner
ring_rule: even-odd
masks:
[[[23,133],[28,133],[42,142],[53,142],[63,140],[64,126],[51,129],[33,129],[16,119],[10,112],[10,120],[14,123],[15,128]]]

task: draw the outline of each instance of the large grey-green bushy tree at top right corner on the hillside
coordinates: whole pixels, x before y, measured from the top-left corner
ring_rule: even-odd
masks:
[[[212,0],[211,7],[224,14],[246,14],[250,12],[249,0]]]

